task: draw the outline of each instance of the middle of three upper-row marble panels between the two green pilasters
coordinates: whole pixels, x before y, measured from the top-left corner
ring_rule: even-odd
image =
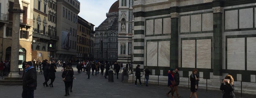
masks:
[[[191,15],[191,32],[201,31],[201,14]]]

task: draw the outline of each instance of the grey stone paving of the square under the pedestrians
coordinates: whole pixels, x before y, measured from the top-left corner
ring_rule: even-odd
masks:
[[[54,87],[43,87],[44,76],[37,75],[37,90],[34,91],[34,98],[167,98],[166,93],[170,90],[169,87],[163,85],[149,84],[148,87],[145,85],[136,87],[132,83],[122,83],[121,74],[119,79],[116,79],[114,75],[114,82],[108,82],[108,79],[104,79],[104,76],[99,74],[91,75],[90,79],[86,79],[86,72],[79,74],[74,68],[74,75],[77,79],[73,82],[73,92],[66,97],[60,70],[61,68],[57,69]],[[22,86],[0,86],[0,89],[1,98],[21,98]],[[179,87],[178,92],[181,98],[189,98],[188,88]],[[198,98],[222,98],[222,91],[206,91],[199,88],[197,96]],[[236,96],[240,98],[240,94],[237,93]],[[256,95],[243,94],[243,98],[256,98]]]

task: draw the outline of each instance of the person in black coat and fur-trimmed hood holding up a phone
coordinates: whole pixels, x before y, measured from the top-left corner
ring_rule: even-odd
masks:
[[[231,75],[227,75],[225,79],[223,79],[223,82],[220,85],[220,90],[224,91],[222,98],[235,98],[235,86],[233,82],[234,78]]]

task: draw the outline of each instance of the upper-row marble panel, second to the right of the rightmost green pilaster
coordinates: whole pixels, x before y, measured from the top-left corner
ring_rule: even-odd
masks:
[[[253,8],[239,10],[239,28],[253,27]]]

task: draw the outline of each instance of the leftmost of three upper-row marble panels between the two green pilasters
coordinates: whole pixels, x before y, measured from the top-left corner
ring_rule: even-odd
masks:
[[[181,16],[181,30],[180,32],[183,33],[183,32],[189,32],[190,31],[190,26],[189,26],[189,23],[190,23],[190,16]]]

